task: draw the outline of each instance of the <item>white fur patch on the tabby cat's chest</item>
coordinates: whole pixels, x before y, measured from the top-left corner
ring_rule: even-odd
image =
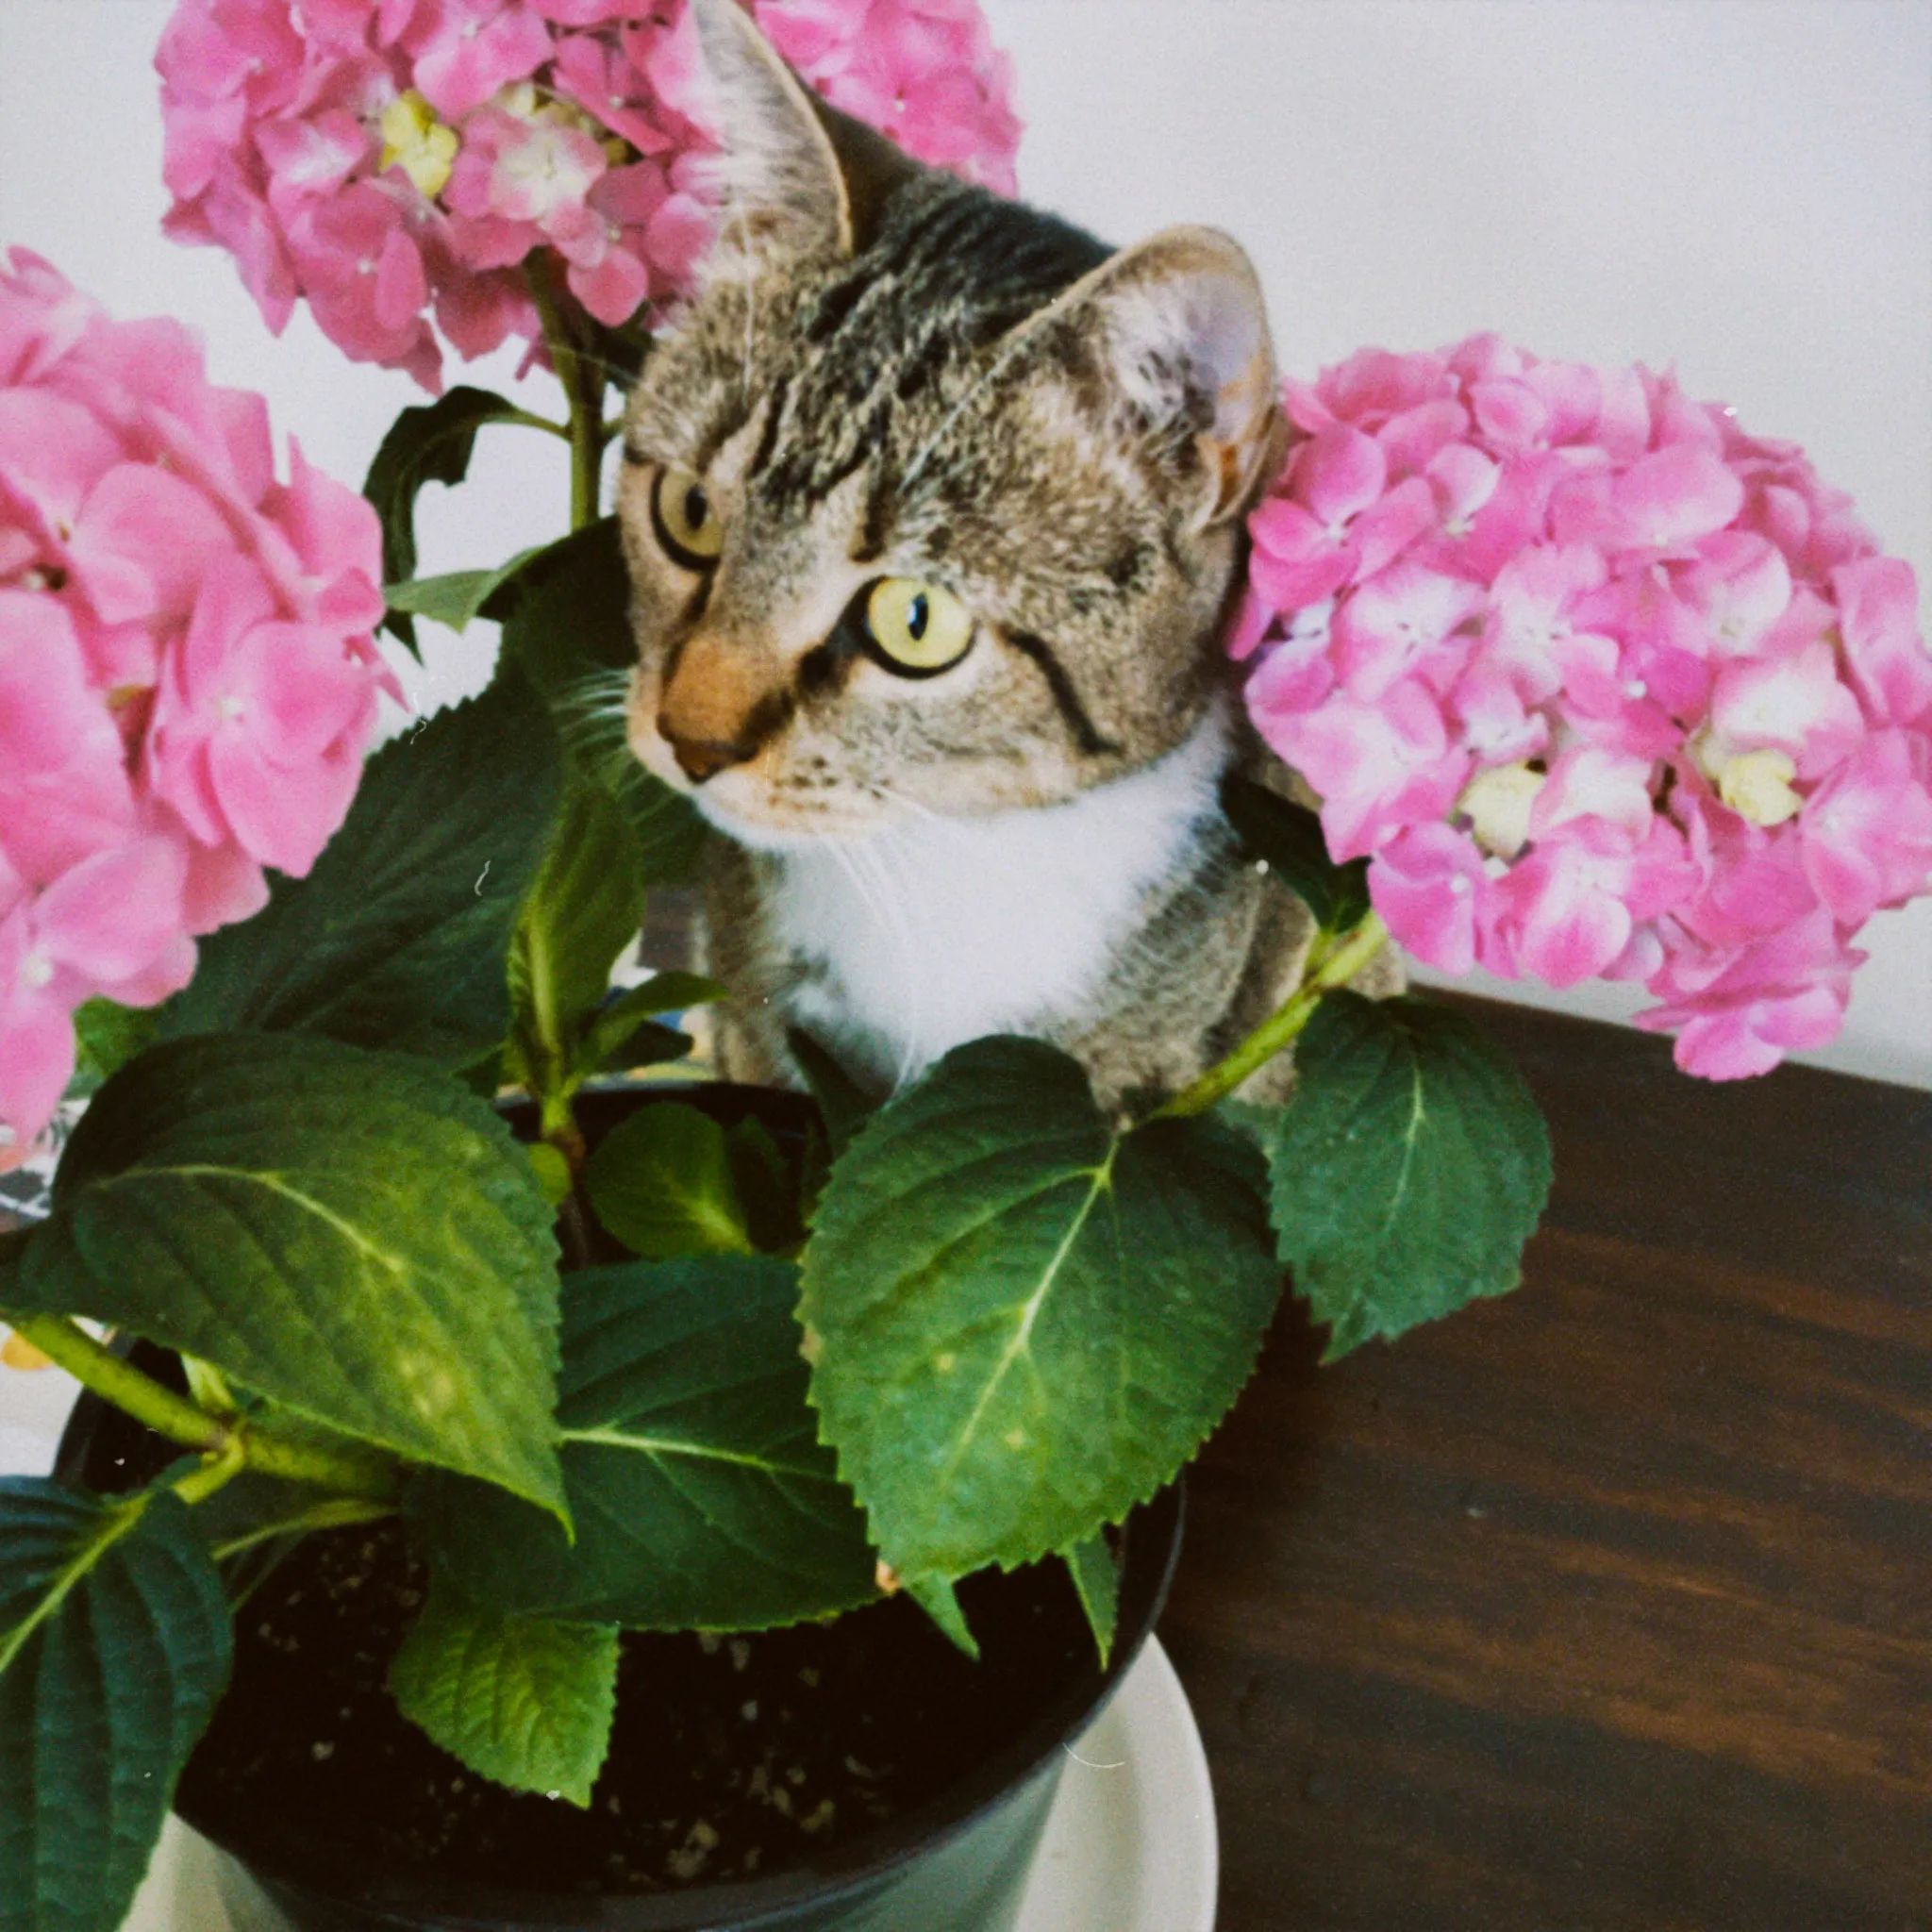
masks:
[[[1186,862],[1225,767],[1213,715],[1167,757],[1065,806],[922,817],[784,852],[775,935],[806,968],[790,1016],[891,1084],[981,1034],[1078,1018],[1148,891]]]

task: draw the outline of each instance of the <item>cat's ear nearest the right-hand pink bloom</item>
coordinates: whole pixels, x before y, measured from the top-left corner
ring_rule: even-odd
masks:
[[[1202,497],[1190,527],[1240,516],[1279,466],[1287,425],[1267,305],[1254,265],[1217,228],[1163,228],[1026,327],[1076,328],[1150,437],[1192,435]]]

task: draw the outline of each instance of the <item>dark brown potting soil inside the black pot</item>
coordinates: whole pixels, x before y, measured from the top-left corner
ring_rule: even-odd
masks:
[[[632,1633],[611,1756],[578,1810],[477,1777],[396,1710],[384,1673],[423,1584],[392,1524],[298,1548],[240,1617],[182,1810],[296,1876],[545,1891],[748,1878],[918,1806],[1095,1669],[1059,1565],[962,1586],[980,1663],[902,1598],[748,1636]]]

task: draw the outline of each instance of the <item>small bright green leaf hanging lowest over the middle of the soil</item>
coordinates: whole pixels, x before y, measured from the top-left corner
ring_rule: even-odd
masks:
[[[469,1770],[587,1808],[611,1748],[616,1650],[611,1625],[498,1617],[431,1577],[388,1689]]]

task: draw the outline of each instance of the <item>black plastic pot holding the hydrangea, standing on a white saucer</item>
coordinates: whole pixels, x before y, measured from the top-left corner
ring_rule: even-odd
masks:
[[[630,1111],[641,1097],[603,1095],[595,1111]],[[781,1138],[786,1128],[796,1132],[788,1095],[686,1090],[665,1097],[699,1101],[726,1119],[755,1111]],[[769,1099],[786,1105],[775,1109]],[[595,1138],[603,1122],[585,1124]],[[141,1354],[156,1366],[158,1350]],[[149,1445],[118,1410],[83,1397],[56,1474],[97,1490],[126,1486],[151,1459],[143,1453]],[[645,1895],[585,1893],[570,1889],[570,1876],[545,1872],[512,1889],[423,1870],[371,1870],[346,1849],[332,1853],[321,1843],[288,1861],[253,1843],[245,1820],[193,1801],[193,1777],[178,1808],[222,1857],[222,1891],[242,1932],[1007,1932],[1066,1762],[1063,1747],[1107,1706],[1151,1633],[1173,1577],[1180,1519],[1179,1488],[1128,1519],[1121,1627],[1105,1673],[1088,1662],[949,1789],[817,1853],[810,1866]]]

